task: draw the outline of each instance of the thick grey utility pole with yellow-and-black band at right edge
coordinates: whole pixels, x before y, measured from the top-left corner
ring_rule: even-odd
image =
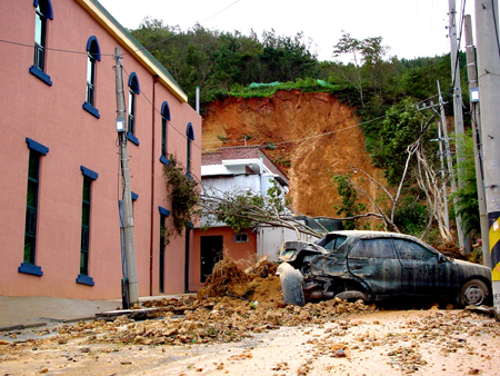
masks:
[[[494,317],[500,321],[500,46],[498,1],[476,0],[484,190],[489,222]]]

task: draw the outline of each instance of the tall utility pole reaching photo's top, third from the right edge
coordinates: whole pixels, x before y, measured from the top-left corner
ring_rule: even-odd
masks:
[[[451,82],[453,85],[453,118],[454,118],[454,137],[456,137],[456,151],[457,151],[457,165],[460,167],[463,161],[463,156],[461,154],[460,142],[463,140],[463,115],[462,115],[462,91],[460,88],[460,65],[457,55],[457,6],[454,0],[449,0],[449,18],[450,24],[448,30],[450,31],[450,46],[451,46]],[[463,187],[463,177],[460,171],[458,174],[458,188]],[[459,238],[459,246],[462,253],[470,253],[469,247],[466,246],[462,220],[460,216],[457,216],[457,235]]]

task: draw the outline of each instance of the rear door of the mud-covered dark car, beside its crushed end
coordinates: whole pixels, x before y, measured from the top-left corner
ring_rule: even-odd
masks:
[[[349,250],[348,269],[378,299],[401,294],[401,263],[390,238],[358,240]]]

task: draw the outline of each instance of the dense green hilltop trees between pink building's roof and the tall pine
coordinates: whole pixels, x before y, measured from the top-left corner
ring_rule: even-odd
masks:
[[[302,33],[294,37],[264,31],[221,32],[200,24],[182,31],[162,21],[146,19],[131,34],[170,71],[191,105],[196,87],[201,102],[223,98],[233,87],[251,82],[293,81],[316,77],[318,60]]]

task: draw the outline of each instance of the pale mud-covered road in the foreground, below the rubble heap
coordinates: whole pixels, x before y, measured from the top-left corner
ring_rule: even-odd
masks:
[[[16,345],[3,340],[0,375],[500,375],[500,323],[436,307],[248,328],[237,342],[154,345],[104,339],[113,332],[111,325],[117,333],[132,326],[151,330],[171,320],[123,325],[117,319],[101,333],[93,328],[77,334],[67,326],[48,338]]]

